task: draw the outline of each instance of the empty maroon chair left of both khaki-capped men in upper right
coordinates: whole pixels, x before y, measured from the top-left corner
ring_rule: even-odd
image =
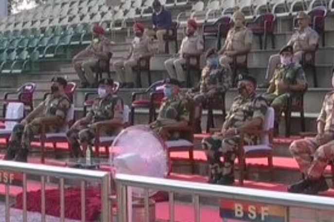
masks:
[[[206,45],[207,39],[216,40],[216,48],[221,48],[222,38],[226,38],[229,29],[232,26],[232,19],[230,16],[222,16],[214,23],[204,23],[203,25],[203,41]]]

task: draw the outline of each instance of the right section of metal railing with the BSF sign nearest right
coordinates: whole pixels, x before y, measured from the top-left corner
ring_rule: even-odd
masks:
[[[204,183],[186,182],[172,179],[134,176],[128,174],[116,174],[116,190],[118,197],[118,222],[131,222],[128,220],[128,187],[143,188],[145,213],[144,221],[151,222],[149,213],[149,191],[163,190],[169,193],[169,222],[175,222],[175,194],[189,194],[192,196],[194,209],[194,222],[200,222],[200,197],[213,197],[235,201],[248,201],[254,203],[271,204],[299,208],[311,208],[316,210],[330,210],[333,212],[334,199],[322,196],[293,194],[269,190],[256,190],[249,188],[209,185]],[[289,215],[289,214],[288,214]],[[319,221],[319,219],[316,219]]]

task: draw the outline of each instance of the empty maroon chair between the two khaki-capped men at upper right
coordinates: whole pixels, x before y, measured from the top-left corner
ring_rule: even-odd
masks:
[[[276,16],[273,13],[264,13],[257,16],[253,21],[247,23],[247,27],[259,37],[260,48],[267,49],[267,37],[271,37],[271,48],[275,48],[275,26]],[[263,38],[264,37],[264,45]]]

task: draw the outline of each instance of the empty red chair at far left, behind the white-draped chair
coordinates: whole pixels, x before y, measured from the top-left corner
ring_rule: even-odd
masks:
[[[33,111],[34,103],[33,97],[36,89],[35,83],[28,82],[23,84],[15,92],[6,92],[3,96],[3,108],[2,114],[5,116],[6,108],[10,102],[22,102],[25,107],[28,107],[28,111]]]

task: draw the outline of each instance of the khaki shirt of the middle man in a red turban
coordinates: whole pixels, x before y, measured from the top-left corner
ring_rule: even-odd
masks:
[[[147,36],[135,37],[132,40],[132,59],[139,59],[142,55],[152,52],[152,40]]]

